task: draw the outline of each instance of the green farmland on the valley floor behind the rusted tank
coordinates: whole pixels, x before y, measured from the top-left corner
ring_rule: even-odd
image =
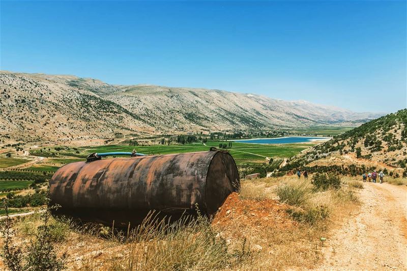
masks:
[[[92,153],[107,152],[132,152],[136,149],[138,153],[146,155],[165,155],[189,152],[202,152],[209,150],[210,147],[219,148],[219,144],[225,144],[228,141],[209,140],[207,143],[195,142],[186,144],[151,144],[151,145],[100,145],[100,146],[62,146],[54,145],[30,150],[31,156],[44,157],[36,164],[29,167],[7,169],[9,166],[25,163],[29,160],[20,157],[0,158],[3,171],[0,171],[0,191],[15,191],[28,188],[33,181],[41,184],[49,179],[62,165],[85,161],[85,158]],[[235,159],[240,172],[258,171],[259,167],[265,167],[263,171],[269,171],[270,168],[278,168],[284,161],[284,158],[290,158],[302,150],[314,145],[315,143],[292,143],[292,144],[251,144],[233,142],[227,150]],[[222,148],[223,149],[223,148]],[[273,162],[269,165],[269,159]],[[267,166],[266,166],[267,165]]]

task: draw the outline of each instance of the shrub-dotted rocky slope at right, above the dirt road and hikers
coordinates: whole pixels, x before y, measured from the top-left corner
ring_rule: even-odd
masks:
[[[374,119],[318,144],[294,157],[290,163],[309,164],[330,157],[328,160],[335,161],[335,155],[407,170],[407,109]]]

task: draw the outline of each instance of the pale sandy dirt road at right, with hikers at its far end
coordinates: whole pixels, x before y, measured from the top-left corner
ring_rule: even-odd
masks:
[[[407,270],[407,188],[364,183],[360,212],[327,239],[319,269]]]

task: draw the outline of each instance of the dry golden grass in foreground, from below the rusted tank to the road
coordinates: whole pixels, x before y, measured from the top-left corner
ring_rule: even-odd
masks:
[[[67,229],[63,226],[67,222],[60,222],[56,235],[64,237],[56,240],[56,247],[60,254],[68,252],[68,269],[74,271],[315,268],[321,261],[321,237],[328,238],[330,229],[345,219],[358,201],[351,186],[324,192],[310,188],[309,180],[299,182],[296,176],[244,181],[239,200],[257,202],[258,206],[274,204],[275,209],[259,210],[259,214],[266,212],[264,217],[241,210],[227,224],[211,225],[203,218],[156,224],[150,218],[133,231],[111,234],[111,229],[100,227],[78,230],[70,225]],[[275,201],[283,195],[284,201],[293,205]],[[291,214],[286,211],[289,209]],[[18,242],[35,234],[38,226],[38,215],[18,221]]]

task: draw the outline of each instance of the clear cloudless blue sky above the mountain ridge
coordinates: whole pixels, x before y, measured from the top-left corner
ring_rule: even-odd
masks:
[[[406,108],[405,1],[1,1],[0,69]]]

